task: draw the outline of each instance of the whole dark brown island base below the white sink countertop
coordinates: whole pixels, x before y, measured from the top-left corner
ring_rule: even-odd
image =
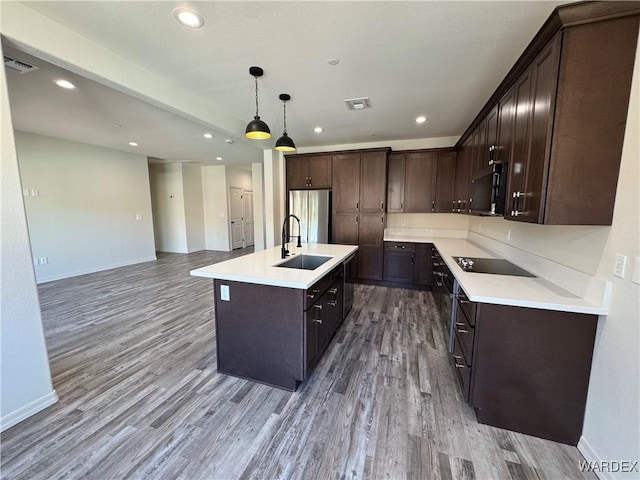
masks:
[[[218,372],[295,391],[342,323],[342,269],[308,290],[214,280]]]

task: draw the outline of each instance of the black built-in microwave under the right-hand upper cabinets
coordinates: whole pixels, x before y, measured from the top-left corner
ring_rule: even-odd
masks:
[[[508,163],[494,163],[478,172],[471,181],[470,213],[504,215]]]

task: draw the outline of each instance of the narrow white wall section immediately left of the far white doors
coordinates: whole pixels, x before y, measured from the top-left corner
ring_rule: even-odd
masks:
[[[224,165],[202,167],[202,196],[207,250],[231,251],[227,217],[227,175]]]

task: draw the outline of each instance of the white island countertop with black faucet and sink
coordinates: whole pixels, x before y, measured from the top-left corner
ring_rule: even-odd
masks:
[[[194,277],[204,277],[236,282],[257,283],[277,287],[307,289],[324,277],[336,266],[342,264],[358,250],[356,245],[303,244],[297,248],[295,242],[289,243],[290,256],[282,259],[280,247],[268,248],[192,270]],[[279,264],[298,255],[323,255],[331,260],[314,270],[278,267]]]

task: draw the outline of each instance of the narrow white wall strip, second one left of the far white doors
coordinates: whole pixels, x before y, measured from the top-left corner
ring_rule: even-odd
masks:
[[[182,165],[187,251],[204,250],[204,199],[199,165]]]

